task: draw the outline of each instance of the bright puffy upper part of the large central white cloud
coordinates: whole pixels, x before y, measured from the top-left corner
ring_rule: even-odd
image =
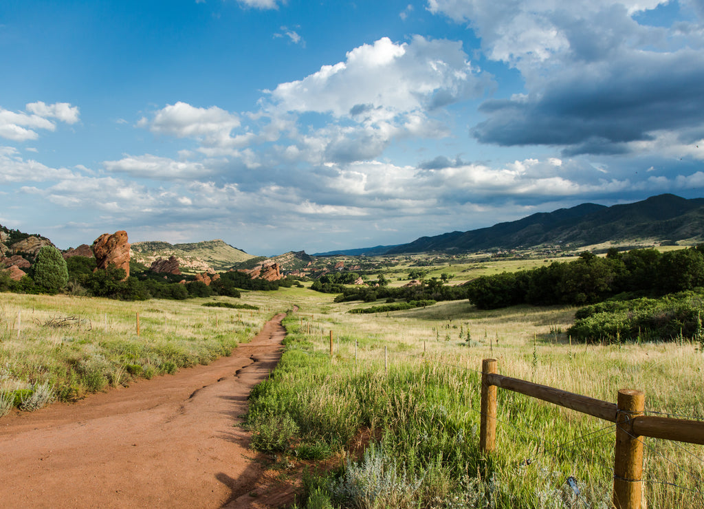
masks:
[[[488,84],[467,61],[461,42],[415,36],[394,44],[383,37],[346,57],[303,80],[279,84],[272,100],[284,111],[379,121],[477,96]]]

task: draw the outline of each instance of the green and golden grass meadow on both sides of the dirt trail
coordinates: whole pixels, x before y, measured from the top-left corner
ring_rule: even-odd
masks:
[[[605,401],[618,389],[641,389],[650,412],[704,419],[704,355],[695,344],[570,344],[562,331],[574,308],[479,311],[453,301],[353,315],[358,303],[333,297],[291,288],[231,300],[259,308],[249,311],[201,306],[213,299],[0,294],[0,393],[45,384],[70,400],[208,363],[296,305],[285,320],[287,351],[254,391],[249,422],[265,450],[341,458],[340,470],[306,478],[301,506],[309,508],[610,507],[609,422],[500,389],[497,450],[479,453],[483,358],[497,358],[504,375]],[[54,326],[65,318],[72,320]],[[377,440],[353,461],[344,451],[360,429]],[[702,458],[701,446],[646,439],[648,505],[703,506]]]

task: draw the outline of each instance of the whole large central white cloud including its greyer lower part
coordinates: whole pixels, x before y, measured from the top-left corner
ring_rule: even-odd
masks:
[[[324,127],[303,134],[289,128],[289,155],[348,163],[379,156],[394,139],[445,136],[436,115],[492,86],[461,42],[415,36],[397,44],[384,37],[348,51],[345,61],[279,84],[264,111],[272,123],[284,115],[320,115]]]

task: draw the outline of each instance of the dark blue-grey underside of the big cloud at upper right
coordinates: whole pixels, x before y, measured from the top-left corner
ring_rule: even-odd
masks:
[[[567,74],[567,73],[565,73]],[[556,77],[527,98],[491,100],[472,135],[501,146],[567,146],[565,153],[623,153],[658,130],[700,127],[704,55],[631,54],[591,72]]]

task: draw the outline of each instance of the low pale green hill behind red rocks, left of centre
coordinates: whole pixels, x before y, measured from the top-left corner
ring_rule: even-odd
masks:
[[[254,256],[226,244],[220,239],[189,244],[169,244],[161,241],[132,243],[132,260],[149,267],[158,258],[175,256],[184,272],[205,272],[206,270],[228,270],[232,265],[244,262]]]

